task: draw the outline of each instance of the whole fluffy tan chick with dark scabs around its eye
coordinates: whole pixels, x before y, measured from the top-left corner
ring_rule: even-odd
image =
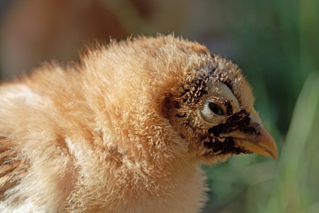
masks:
[[[93,45],[0,87],[1,212],[199,212],[199,164],[277,157],[232,62],[173,35]]]

